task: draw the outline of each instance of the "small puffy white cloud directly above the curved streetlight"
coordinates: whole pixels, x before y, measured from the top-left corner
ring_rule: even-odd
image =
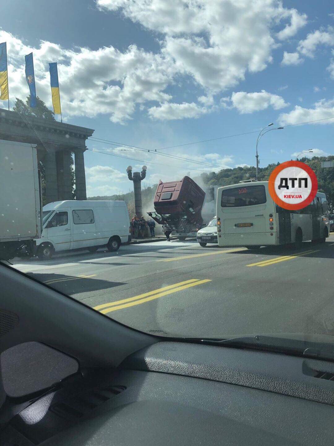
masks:
[[[233,107],[242,114],[265,110],[269,106],[273,107],[274,110],[279,110],[289,105],[281,96],[273,95],[265,90],[258,93],[246,93],[245,91],[233,92],[231,100]]]

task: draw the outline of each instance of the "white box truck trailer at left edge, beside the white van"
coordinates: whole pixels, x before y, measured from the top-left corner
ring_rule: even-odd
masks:
[[[41,237],[41,187],[36,144],[0,140],[0,260]]]

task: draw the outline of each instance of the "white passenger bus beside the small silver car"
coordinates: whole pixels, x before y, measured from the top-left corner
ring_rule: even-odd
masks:
[[[325,242],[329,236],[326,195],[318,192],[309,206],[287,211],[277,206],[268,190],[268,181],[240,182],[220,187],[217,193],[219,246],[300,244]]]

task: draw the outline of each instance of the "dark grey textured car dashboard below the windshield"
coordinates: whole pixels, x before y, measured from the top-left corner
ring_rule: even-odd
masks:
[[[333,377],[327,361],[162,341],[72,373],[1,445],[332,445]]]

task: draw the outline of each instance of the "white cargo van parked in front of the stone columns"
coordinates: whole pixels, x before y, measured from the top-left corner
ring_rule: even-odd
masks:
[[[43,231],[36,254],[50,259],[54,252],[100,246],[117,251],[130,242],[130,219],[124,201],[55,201],[43,206]]]

